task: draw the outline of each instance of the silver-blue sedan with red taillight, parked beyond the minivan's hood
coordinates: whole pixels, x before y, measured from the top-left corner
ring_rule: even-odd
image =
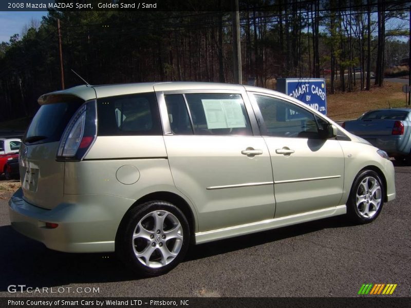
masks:
[[[411,162],[411,109],[379,109],[365,112],[343,127],[364,138],[396,160]]]

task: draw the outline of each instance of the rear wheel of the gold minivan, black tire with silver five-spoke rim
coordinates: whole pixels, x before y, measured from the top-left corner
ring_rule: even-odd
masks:
[[[158,276],[180,263],[190,243],[189,224],[169,202],[150,201],[129,210],[116,237],[116,253],[136,273]]]

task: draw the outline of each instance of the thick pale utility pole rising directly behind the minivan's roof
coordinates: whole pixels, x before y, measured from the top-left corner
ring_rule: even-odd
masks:
[[[241,73],[241,45],[240,45],[240,14],[238,9],[238,0],[232,0],[231,12],[232,32],[233,32],[233,69],[234,83],[242,84]]]

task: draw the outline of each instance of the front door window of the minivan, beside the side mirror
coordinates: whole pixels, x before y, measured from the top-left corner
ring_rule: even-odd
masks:
[[[328,124],[306,109],[290,102],[254,95],[264,123],[260,129],[266,136],[288,138],[318,138],[318,125]],[[320,121],[325,123],[319,123]]]

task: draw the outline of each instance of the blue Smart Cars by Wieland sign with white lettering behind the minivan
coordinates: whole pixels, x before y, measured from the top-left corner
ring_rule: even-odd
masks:
[[[277,79],[277,91],[302,101],[317,111],[327,114],[327,97],[324,79]]]

